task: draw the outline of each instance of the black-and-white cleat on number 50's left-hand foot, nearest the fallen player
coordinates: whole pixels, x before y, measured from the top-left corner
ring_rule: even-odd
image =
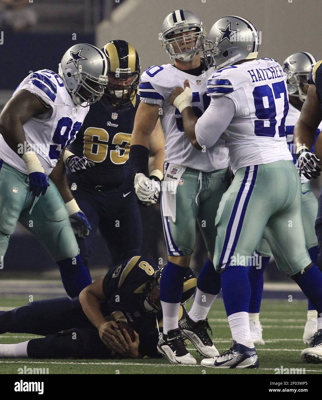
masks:
[[[174,364],[197,364],[197,360],[185,348],[180,328],[171,329],[167,335],[160,336],[157,349],[160,354],[165,355]]]

